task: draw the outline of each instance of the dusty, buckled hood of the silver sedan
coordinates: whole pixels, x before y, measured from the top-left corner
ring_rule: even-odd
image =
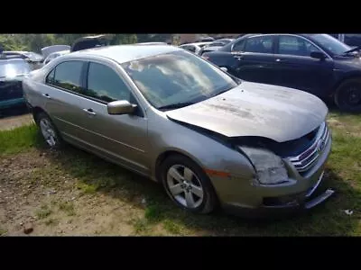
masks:
[[[283,142],[319,127],[328,107],[300,90],[244,81],[224,94],[165,113],[171,120],[227,137],[257,136]]]

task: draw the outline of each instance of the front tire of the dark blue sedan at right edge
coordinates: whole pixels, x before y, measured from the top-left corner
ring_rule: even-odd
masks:
[[[340,111],[361,112],[361,78],[342,82],[336,90],[334,101]]]

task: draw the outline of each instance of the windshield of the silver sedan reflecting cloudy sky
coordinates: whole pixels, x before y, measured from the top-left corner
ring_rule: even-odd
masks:
[[[185,50],[126,62],[122,67],[158,109],[197,103],[237,85],[218,67]]]

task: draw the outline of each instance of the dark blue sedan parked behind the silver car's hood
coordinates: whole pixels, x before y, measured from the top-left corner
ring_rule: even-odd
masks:
[[[357,51],[328,34],[247,34],[202,57],[241,79],[300,89],[361,112]]]

